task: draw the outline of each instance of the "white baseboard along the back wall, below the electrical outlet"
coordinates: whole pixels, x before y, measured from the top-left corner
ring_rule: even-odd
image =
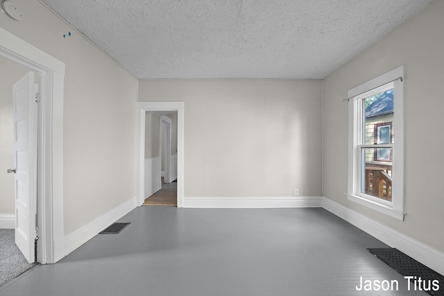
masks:
[[[183,207],[188,208],[285,208],[322,207],[318,196],[205,196],[183,197]]]

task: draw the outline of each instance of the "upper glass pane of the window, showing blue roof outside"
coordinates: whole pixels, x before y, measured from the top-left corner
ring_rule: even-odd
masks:
[[[373,94],[362,100],[363,139],[362,143],[394,143],[393,89]]]

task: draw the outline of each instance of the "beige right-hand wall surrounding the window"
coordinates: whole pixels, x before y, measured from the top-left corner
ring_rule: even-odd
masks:
[[[444,1],[434,1],[324,80],[324,195],[444,252]],[[405,64],[404,222],[349,202],[348,89]],[[397,130],[399,133],[400,130]]]

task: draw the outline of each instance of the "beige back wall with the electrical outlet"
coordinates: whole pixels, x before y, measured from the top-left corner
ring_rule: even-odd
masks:
[[[319,80],[141,80],[185,102],[185,196],[321,195]]]

